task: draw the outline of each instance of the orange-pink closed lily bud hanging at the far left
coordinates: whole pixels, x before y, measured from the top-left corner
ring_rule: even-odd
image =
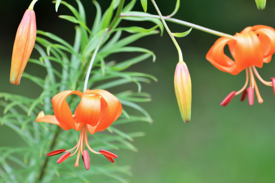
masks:
[[[11,62],[10,82],[19,85],[36,39],[36,18],[34,10],[27,9],[18,27]]]

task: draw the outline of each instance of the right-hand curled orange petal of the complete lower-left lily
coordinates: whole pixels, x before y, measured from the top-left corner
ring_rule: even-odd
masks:
[[[99,120],[98,127],[96,128],[95,132],[98,130],[103,131],[104,129],[108,128],[121,115],[121,103],[119,102],[118,98],[110,92],[105,90],[87,90],[85,93],[98,94],[104,99],[104,101],[101,101],[101,105],[103,105],[103,108],[106,110],[100,115],[102,118]]]

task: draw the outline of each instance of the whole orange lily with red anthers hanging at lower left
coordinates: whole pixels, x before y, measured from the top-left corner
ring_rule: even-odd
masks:
[[[66,102],[66,97],[71,94],[77,94],[81,97],[74,114],[72,114]],[[122,112],[122,106],[117,97],[105,90],[86,90],[83,93],[81,91],[62,91],[53,97],[52,103],[55,115],[44,115],[43,111],[41,111],[36,122],[56,124],[64,130],[69,130],[71,128],[77,131],[80,130],[80,135],[79,142],[72,149],[55,150],[48,153],[47,156],[65,152],[58,159],[57,163],[59,164],[78,152],[75,163],[75,166],[78,167],[81,153],[85,168],[88,170],[90,162],[88,151],[84,150],[84,146],[86,145],[93,153],[103,154],[109,161],[114,163],[113,158],[118,158],[117,155],[102,149],[97,152],[89,146],[87,131],[90,134],[94,134],[97,131],[103,131],[118,119]],[[71,154],[73,150],[75,150],[75,152]]]

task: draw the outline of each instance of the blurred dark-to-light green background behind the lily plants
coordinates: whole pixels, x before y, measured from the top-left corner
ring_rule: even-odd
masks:
[[[91,0],[81,0],[87,11],[87,20],[93,22],[95,7]],[[129,0],[126,0],[126,3]],[[0,92],[39,96],[41,89],[26,78],[20,86],[9,83],[10,60],[17,27],[31,0],[2,1],[0,16]],[[67,0],[76,4],[74,0]],[[103,9],[107,0],[98,0]],[[157,0],[163,15],[170,14],[176,0]],[[135,10],[141,11],[137,0]],[[275,27],[275,1],[268,0],[264,11],[256,9],[254,0],[181,0],[174,18],[186,20],[217,31],[234,35],[247,26],[264,24]],[[39,0],[35,5],[37,28],[53,32],[68,42],[73,41],[74,25],[59,19],[68,14],[64,6],[56,13],[50,0]],[[151,1],[148,12],[156,14]],[[129,25],[122,21],[121,26]],[[133,23],[131,23],[133,25]],[[140,24],[139,24],[140,25]],[[143,22],[145,28],[152,24]],[[189,28],[168,23],[172,32],[184,32]],[[135,139],[139,151],[118,151],[118,165],[131,165],[131,183],[272,183],[275,180],[275,97],[273,89],[258,83],[263,104],[249,106],[237,96],[227,107],[219,106],[231,91],[239,90],[245,81],[245,73],[231,75],[212,66],[205,55],[218,37],[192,30],[187,37],[177,38],[183,51],[192,79],[192,121],[183,123],[174,93],[174,72],[177,50],[168,34],[154,35],[135,43],[136,46],[154,51],[152,59],[140,63],[131,70],[150,73],[158,82],[143,85],[142,90],[152,94],[152,102],[141,104],[152,116],[154,123],[126,125],[124,131],[144,131],[146,136]],[[34,53],[31,57],[35,57]],[[127,55],[113,57],[117,61]],[[259,73],[265,80],[275,76],[275,58],[264,64]],[[41,68],[39,68],[41,69]],[[45,74],[36,65],[28,64],[27,73]],[[125,90],[137,91],[134,85]],[[0,109],[2,110],[2,109]],[[0,114],[2,115],[2,113]],[[0,127],[0,146],[20,146],[19,136]]]

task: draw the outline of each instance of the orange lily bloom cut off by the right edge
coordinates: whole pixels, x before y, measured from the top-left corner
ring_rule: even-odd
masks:
[[[228,45],[230,56],[224,54],[224,47]],[[275,53],[275,30],[265,25],[255,25],[247,27],[240,33],[236,33],[234,38],[220,37],[210,48],[206,59],[210,61],[220,71],[236,75],[241,71],[246,72],[246,81],[242,89],[232,91],[222,102],[221,106],[226,106],[234,96],[243,92],[241,101],[248,94],[249,104],[254,103],[254,90],[259,103],[263,102],[259,93],[255,76],[265,85],[273,86],[272,81],[265,81],[261,78],[256,67],[261,68],[263,63],[269,63]],[[248,82],[249,87],[247,88]]]

